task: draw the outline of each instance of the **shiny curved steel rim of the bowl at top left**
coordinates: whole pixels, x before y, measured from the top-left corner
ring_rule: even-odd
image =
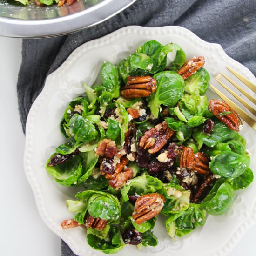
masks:
[[[110,19],[135,1],[104,0],[81,12],[45,20],[20,20],[0,17],[0,36],[45,38],[74,33]]]

